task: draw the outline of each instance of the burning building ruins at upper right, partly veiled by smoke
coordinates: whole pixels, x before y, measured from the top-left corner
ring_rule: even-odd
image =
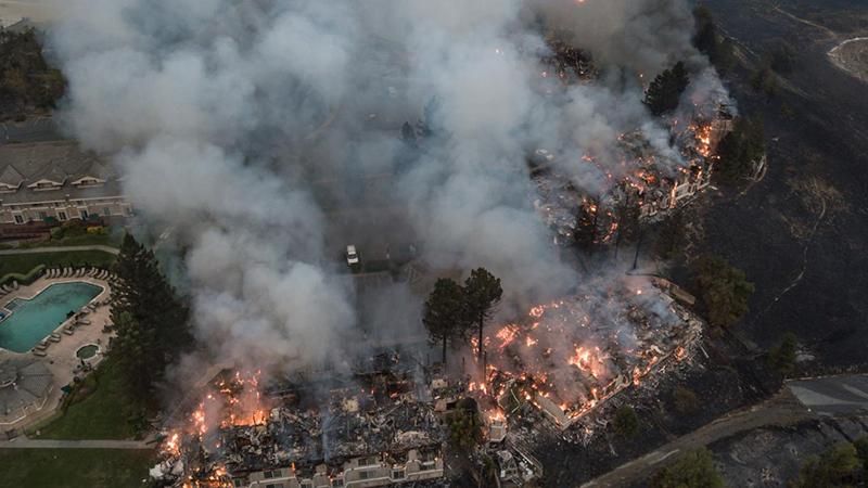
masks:
[[[672,120],[671,139],[678,151],[672,154],[655,147],[641,130],[623,133],[614,166],[585,155],[570,168],[554,153],[538,149],[528,157],[534,206],[558,244],[572,242],[582,231],[593,244],[611,244],[620,228],[659,220],[711,185],[714,152],[732,130],[733,119],[731,107],[718,104],[714,111],[697,107],[687,127]],[[587,170],[582,170],[585,165]],[[571,172],[601,175],[603,191],[588,194],[572,181]]]

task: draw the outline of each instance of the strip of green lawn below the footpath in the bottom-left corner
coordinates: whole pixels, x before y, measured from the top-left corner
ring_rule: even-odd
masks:
[[[148,486],[154,451],[131,449],[0,449],[0,488]]]

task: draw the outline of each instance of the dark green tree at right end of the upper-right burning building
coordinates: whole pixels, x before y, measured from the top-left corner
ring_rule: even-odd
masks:
[[[755,165],[765,157],[766,142],[763,120],[739,118],[732,131],[717,146],[717,174],[729,183],[751,178]]]

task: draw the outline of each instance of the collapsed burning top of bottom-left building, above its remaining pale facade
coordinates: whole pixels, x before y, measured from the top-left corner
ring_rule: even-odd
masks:
[[[260,388],[256,375],[218,380],[190,422],[169,435],[167,459],[152,475],[222,486],[264,470],[292,466],[298,477],[310,477],[324,468],[331,475],[362,457],[399,463],[410,450],[439,449],[433,406],[419,401],[409,381],[371,371],[362,377],[353,386],[311,391],[310,398],[295,385]]]

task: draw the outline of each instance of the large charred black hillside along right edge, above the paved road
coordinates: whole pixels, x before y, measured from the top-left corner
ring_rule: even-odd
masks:
[[[765,179],[740,196],[727,189],[712,195],[705,215],[705,251],[756,284],[738,331],[763,348],[794,332],[822,367],[860,365],[868,343],[868,84],[827,53],[868,35],[868,4],[707,3],[749,64],[776,39],[796,53],[771,98],[750,88],[743,66],[727,77],[741,112],[765,119],[769,143]]]

